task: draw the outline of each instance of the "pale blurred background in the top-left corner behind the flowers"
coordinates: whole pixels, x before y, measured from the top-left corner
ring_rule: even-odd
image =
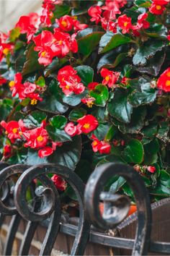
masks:
[[[11,30],[22,15],[40,13],[41,4],[41,0],[0,0],[0,31]]]

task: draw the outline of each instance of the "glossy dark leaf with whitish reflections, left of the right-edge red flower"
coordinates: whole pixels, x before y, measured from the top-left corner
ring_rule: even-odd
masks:
[[[129,84],[136,89],[129,95],[128,101],[132,106],[146,105],[156,99],[156,90],[151,88],[151,82],[143,77],[130,80]]]

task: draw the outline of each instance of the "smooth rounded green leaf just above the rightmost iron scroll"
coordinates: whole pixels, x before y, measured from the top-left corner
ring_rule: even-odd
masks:
[[[132,139],[125,148],[123,155],[125,161],[128,163],[142,163],[143,162],[143,145],[139,140]]]

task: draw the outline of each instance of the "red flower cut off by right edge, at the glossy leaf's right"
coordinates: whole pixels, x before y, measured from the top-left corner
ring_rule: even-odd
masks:
[[[170,92],[170,67],[158,78],[157,87],[166,93]]]

